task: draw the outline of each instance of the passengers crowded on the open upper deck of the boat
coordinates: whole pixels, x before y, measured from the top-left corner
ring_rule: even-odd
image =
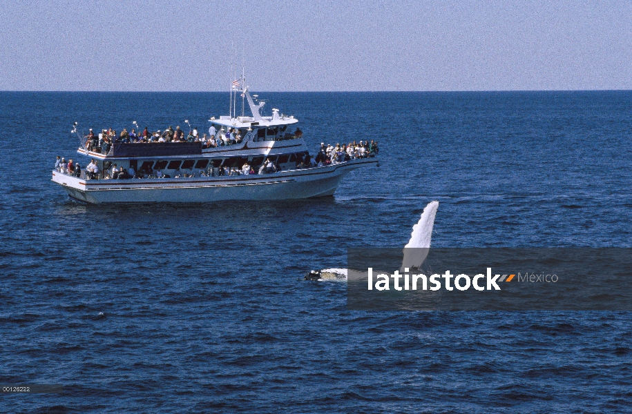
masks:
[[[294,131],[295,137],[303,136],[303,131],[296,128]],[[149,132],[148,127],[145,127],[141,132],[136,132],[132,128],[131,132],[128,132],[127,128],[123,128],[120,134],[117,134],[115,130],[109,128],[108,130],[102,130],[101,133],[95,134],[90,128],[90,132],[86,135],[86,149],[90,151],[100,150],[103,154],[107,154],[112,148],[114,143],[123,144],[142,144],[153,142],[201,142],[202,148],[216,148],[218,146],[227,146],[232,144],[240,144],[243,141],[241,132],[236,128],[229,128],[228,131],[221,128],[217,130],[214,126],[209,128],[209,135],[203,134],[200,136],[198,128],[193,128],[189,131],[189,134],[184,136],[184,131],[180,129],[180,126],[176,126],[175,130],[169,126],[164,131],[157,130],[155,132]]]

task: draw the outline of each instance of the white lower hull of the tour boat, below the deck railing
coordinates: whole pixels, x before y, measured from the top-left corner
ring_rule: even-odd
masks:
[[[367,158],[275,174],[175,179],[86,180],[53,171],[52,181],[91,204],[304,199],[333,195],[347,172],[377,164],[378,159]]]

